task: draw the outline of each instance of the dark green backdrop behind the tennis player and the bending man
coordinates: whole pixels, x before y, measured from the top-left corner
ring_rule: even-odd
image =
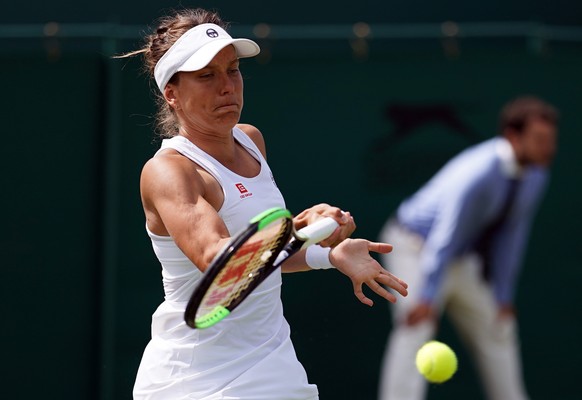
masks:
[[[242,120],[263,132],[289,209],[350,210],[355,236],[375,239],[449,157],[495,135],[506,101],[553,103],[560,149],[517,305],[532,398],[581,397],[582,2],[566,0],[5,4],[3,397],[131,398],[163,298],[138,186],[160,141],[140,60],[112,56],[140,47],[178,6],[215,9],[233,36],[260,43],[241,67]],[[310,172],[298,179],[302,166]],[[361,305],[331,271],[285,276],[283,296],[321,399],[375,399],[386,302]],[[460,370],[429,398],[482,399],[446,320],[439,338],[457,350]]]

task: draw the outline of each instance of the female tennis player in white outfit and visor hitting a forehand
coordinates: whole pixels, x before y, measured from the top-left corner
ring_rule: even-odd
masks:
[[[165,301],[152,318],[134,386],[135,399],[317,399],[289,338],[281,304],[281,269],[220,324],[191,329],[184,310],[194,287],[231,235],[272,207],[285,207],[266,161],[261,132],[239,124],[243,81],[239,59],[259,53],[233,39],[220,17],[203,9],[160,20],[138,51],[160,90],[159,126],[166,137],[144,166],[141,196],[146,228],[162,265]],[[301,228],[322,217],[339,227],[321,246],[302,250],[283,272],[335,267],[367,305],[362,286],[388,301],[406,283],[384,270],[370,251],[392,246],[349,239],[349,212],[319,204],[294,219]]]

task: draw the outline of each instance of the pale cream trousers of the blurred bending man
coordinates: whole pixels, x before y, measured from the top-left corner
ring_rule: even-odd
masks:
[[[416,370],[415,357],[422,344],[435,337],[436,321],[414,326],[403,323],[420,296],[422,238],[391,222],[380,239],[394,245],[392,253],[383,255],[383,265],[408,283],[409,294],[392,306],[393,328],[382,362],[379,399],[422,400],[426,397],[427,382]],[[528,398],[522,379],[516,320],[498,318],[493,293],[481,277],[477,256],[467,255],[447,266],[435,307],[439,316],[447,313],[471,354],[488,399]]]

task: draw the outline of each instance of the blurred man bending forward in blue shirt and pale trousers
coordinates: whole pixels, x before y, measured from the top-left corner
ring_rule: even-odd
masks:
[[[384,265],[410,285],[392,307],[381,400],[420,400],[415,355],[443,312],[476,363],[488,399],[524,400],[514,307],[531,225],[557,146],[558,112],[532,97],[501,110],[499,135],[452,158],[405,199],[380,238]]]

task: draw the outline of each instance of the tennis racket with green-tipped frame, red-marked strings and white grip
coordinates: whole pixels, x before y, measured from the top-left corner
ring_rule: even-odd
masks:
[[[220,322],[285,260],[328,238],[337,227],[328,217],[296,231],[291,213],[283,208],[257,215],[209,265],[186,307],[186,324],[208,328]]]

